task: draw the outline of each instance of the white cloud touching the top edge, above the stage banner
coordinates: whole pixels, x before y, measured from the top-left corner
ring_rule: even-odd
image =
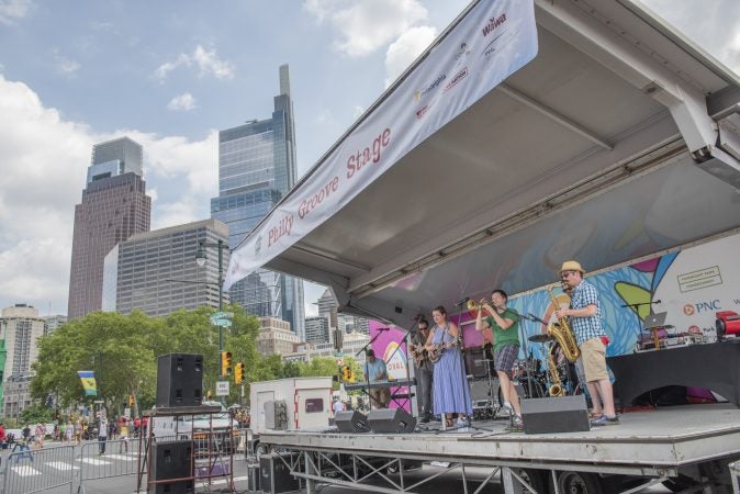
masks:
[[[318,22],[329,20],[339,38],[336,48],[351,57],[369,55],[427,19],[418,0],[306,0]]]

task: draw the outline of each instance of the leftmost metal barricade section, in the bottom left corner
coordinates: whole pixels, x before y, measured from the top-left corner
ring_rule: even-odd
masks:
[[[5,494],[30,494],[69,485],[72,492],[75,481],[75,447],[59,446],[31,449],[18,444],[7,458],[3,458],[4,478],[2,492]]]

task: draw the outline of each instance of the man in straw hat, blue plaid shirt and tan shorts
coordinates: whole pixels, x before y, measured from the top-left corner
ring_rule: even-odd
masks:
[[[604,402],[604,414],[592,420],[591,425],[618,425],[612,381],[606,370],[606,346],[602,339],[606,336],[602,326],[602,305],[596,287],[584,281],[584,274],[585,271],[579,262],[563,262],[560,277],[571,289],[571,305],[569,308],[556,311],[556,317],[570,317],[570,326],[581,350],[587,385],[596,386]]]

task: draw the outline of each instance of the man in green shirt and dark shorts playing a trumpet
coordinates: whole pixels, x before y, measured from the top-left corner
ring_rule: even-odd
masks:
[[[493,364],[501,383],[501,393],[504,397],[502,407],[508,412],[511,426],[522,428],[522,407],[519,395],[509,375],[516,359],[519,356],[519,314],[506,307],[508,295],[503,290],[491,293],[491,303],[482,303],[475,318],[475,330],[493,334]],[[483,312],[487,316],[483,318]]]

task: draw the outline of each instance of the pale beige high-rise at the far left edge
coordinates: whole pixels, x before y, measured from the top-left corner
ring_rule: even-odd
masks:
[[[31,404],[31,364],[38,358],[37,339],[44,334],[44,318],[37,308],[15,304],[2,310],[0,328],[4,344],[0,349],[0,360],[4,351],[1,409],[5,417],[18,417]]]

